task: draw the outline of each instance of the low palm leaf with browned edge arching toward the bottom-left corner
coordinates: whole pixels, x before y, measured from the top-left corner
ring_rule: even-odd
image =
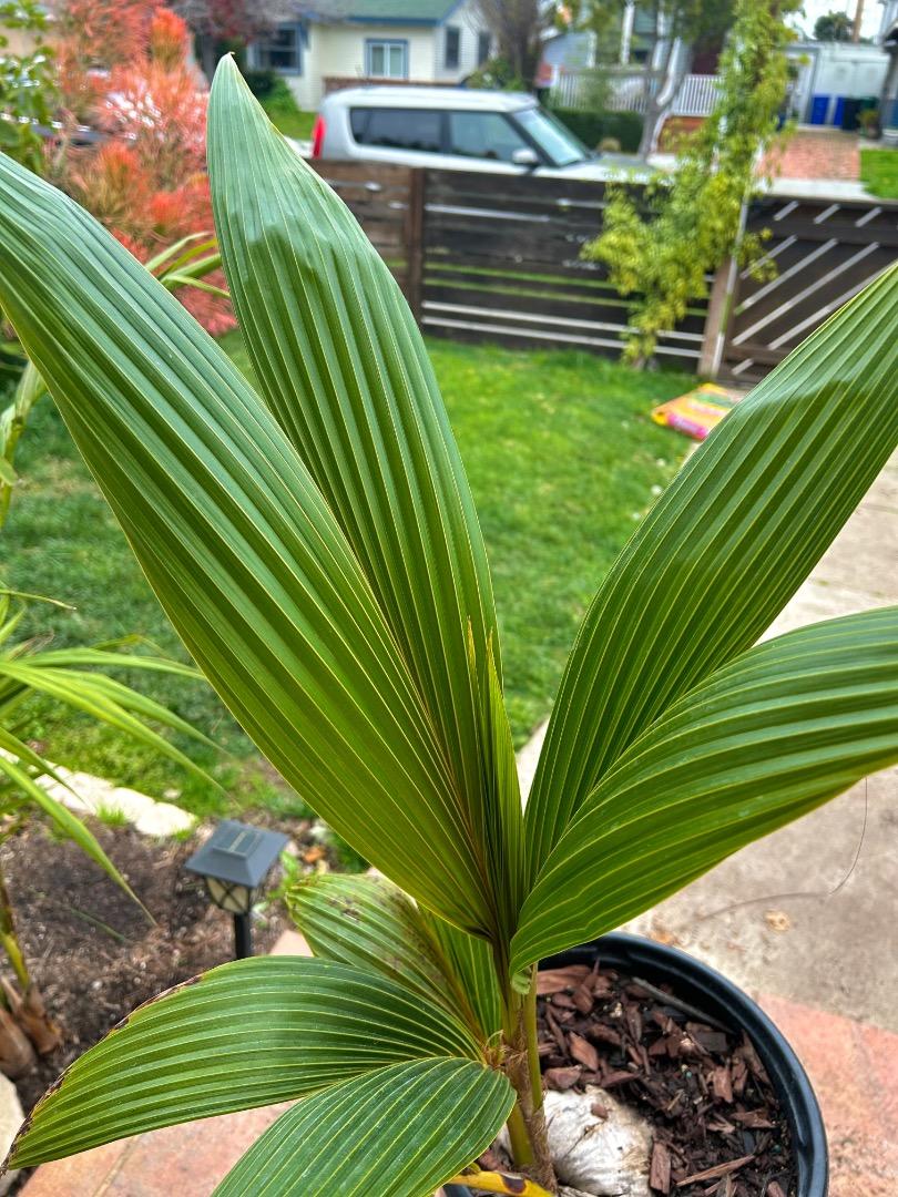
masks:
[[[329,960],[238,960],[141,1005],[75,1061],[23,1128],[10,1163],[433,1057],[480,1053],[444,1009],[383,977]]]

